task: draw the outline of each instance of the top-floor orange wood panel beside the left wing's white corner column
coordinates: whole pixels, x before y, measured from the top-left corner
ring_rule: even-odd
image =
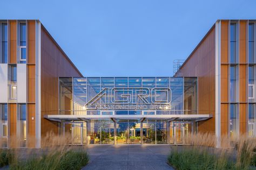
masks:
[[[35,63],[36,62],[36,21],[29,20],[28,21],[28,63]]]

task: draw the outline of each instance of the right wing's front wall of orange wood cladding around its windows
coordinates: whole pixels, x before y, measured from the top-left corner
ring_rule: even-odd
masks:
[[[231,20],[221,20],[221,136],[230,136],[230,104],[238,105],[238,134],[247,133],[248,113],[248,20],[234,20],[237,23],[237,55],[238,61],[230,61],[230,23]],[[235,102],[230,100],[230,67],[235,65],[238,69],[238,98]]]

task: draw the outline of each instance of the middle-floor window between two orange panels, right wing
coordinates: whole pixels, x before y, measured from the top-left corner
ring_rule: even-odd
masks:
[[[237,69],[230,66],[230,102],[235,102],[237,96]]]

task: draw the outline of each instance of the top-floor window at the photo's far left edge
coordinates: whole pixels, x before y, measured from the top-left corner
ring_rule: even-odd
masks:
[[[2,45],[1,45],[1,60],[0,63],[7,63],[7,23],[2,23]]]

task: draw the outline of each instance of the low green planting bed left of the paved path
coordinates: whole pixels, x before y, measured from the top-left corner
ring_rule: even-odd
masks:
[[[89,161],[82,146],[41,151],[0,150],[0,157],[0,167],[9,166],[10,169],[81,169]]]

